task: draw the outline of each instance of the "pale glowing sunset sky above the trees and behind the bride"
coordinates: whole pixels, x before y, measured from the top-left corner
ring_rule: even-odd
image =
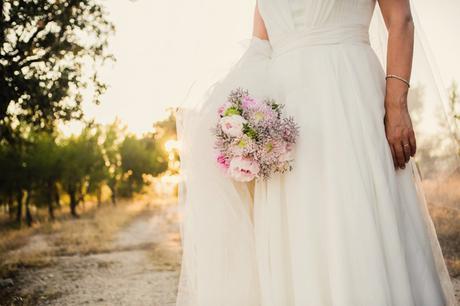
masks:
[[[251,36],[255,0],[104,3],[117,28],[110,45],[117,62],[103,71],[109,90],[102,104],[85,103],[85,113],[100,123],[119,117],[140,134],[151,130],[167,107],[182,104],[194,82],[238,59]],[[460,1],[417,3],[444,83],[460,81]]]

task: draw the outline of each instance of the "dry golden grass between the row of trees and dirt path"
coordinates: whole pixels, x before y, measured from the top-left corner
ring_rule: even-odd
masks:
[[[120,228],[150,205],[145,199],[97,208],[86,205],[80,218],[62,214],[54,222],[32,228],[8,228],[0,235],[0,278],[14,276],[20,268],[53,264],[56,256],[106,252]]]

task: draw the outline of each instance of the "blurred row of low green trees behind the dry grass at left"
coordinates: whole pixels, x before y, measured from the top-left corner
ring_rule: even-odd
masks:
[[[104,185],[115,204],[118,194],[132,196],[148,184],[148,176],[167,170],[164,141],[175,133],[173,123],[162,121],[155,133],[142,137],[125,136],[119,121],[107,126],[89,123],[69,137],[21,126],[20,142],[0,141],[0,204],[15,209],[18,221],[25,207],[28,223],[31,205],[47,207],[53,218],[61,192],[68,195],[75,217],[87,195],[102,202]]]

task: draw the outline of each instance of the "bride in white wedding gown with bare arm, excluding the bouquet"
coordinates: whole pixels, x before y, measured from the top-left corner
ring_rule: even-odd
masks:
[[[409,0],[380,0],[386,73],[369,43],[375,0],[259,0],[251,45],[200,107],[181,112],[179,306],[453,306],[411,157]],[[236,183],[215,166],[232,89],[285,104],[291,172]]]

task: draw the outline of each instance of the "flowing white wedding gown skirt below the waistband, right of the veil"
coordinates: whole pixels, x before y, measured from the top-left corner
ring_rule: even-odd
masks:
[[[414,163],[393,166],[370,46],[293,50],[269,76],[300,137],[294,170],[256,185],[262,305],[446,305]]]

